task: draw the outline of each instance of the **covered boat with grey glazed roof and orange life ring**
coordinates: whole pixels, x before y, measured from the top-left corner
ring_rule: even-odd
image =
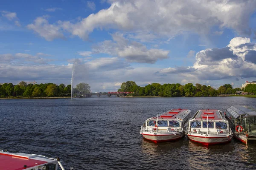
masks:
[[[231,106],[227,108],[226,118],[231,124],[236,139],[245,144],[256,142],[256,108]]]

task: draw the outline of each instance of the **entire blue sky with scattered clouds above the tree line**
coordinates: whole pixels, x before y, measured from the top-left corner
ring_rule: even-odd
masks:
[[[1,0],[0,83],[256,80],[256,0]]]

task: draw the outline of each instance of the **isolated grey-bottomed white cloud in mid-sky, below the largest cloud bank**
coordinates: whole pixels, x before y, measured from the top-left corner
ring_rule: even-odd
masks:
[[[169,51],[152,48],[147,49],[145,45],[129,41],[122,34],[112,34],[111,40],[100,42],[93,46],[93,52],[106,53],[112,56],[125,58],[128,62],[155,63],[158,59],[168,58]]]

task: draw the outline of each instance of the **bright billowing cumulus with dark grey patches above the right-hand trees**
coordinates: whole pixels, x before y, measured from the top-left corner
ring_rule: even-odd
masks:
[[[256,44],[235,37],[224,48],[208,48],[196,54],[192,67],[164,68],[158,74],[179,74],[185,79],[221,80],[256,77]]]

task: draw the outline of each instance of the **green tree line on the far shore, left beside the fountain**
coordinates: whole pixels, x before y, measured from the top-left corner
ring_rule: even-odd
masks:
[[[90,93],[90,85],[79,83],[73,88],[74,96]],[[65,97],[71,95],[71,85],[56,85],[54,83],[46,84],[27,84],[21,81],[17,85],[4,83],[0,85],[0,97]]]

